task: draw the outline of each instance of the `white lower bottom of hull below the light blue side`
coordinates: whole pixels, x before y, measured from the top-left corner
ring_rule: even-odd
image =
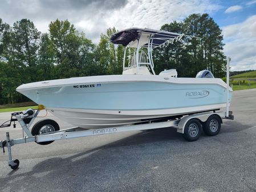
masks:
[[[149,120],[162,119],[174,116],[213,111],[225,107],[225,104],[206,105],[200,107],[169,109],[164,111],[152,111],[159,115],[148,115],[143,111],[131,111],[127,115],[121,115],[120,111],[87,110],[87,109],[67,109],[67,108],[47,108],[54,116],[59,117],[68,123],[80,128],[98,129],[111,126],[122,126],[146,122]],[[120,113],[119,113],[120,112]],[[123,111],[122,111],[123,113]],[[137,114],[137,115],[136,115]],[[139,115],[141,114],[141,115]]]

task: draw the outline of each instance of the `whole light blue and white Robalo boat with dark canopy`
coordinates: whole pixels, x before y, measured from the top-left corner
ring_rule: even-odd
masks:
[[[138,124],[152,119],[171,119],[191,113],[216,111],[231,101],[226,83],[209,71],[195,78],[177,77],[176,70],[155,74],[153,48],[182,34],[129,28],[111,41],[125,46],[123,75],[73,77],[23,84],[17,91],[42,104],[53,115],[81,128]],[[128,48],[135,48],[127,63]],[[141,50],[147,49],[147,52]],[[212,78],[205,78],[205,77]]]

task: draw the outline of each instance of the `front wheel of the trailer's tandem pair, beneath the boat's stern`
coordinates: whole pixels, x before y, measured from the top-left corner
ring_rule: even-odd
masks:
[[[186,122],[183,137],[187,141],[196,141],[202,132],[200,121],[197,119],[190,119]]]

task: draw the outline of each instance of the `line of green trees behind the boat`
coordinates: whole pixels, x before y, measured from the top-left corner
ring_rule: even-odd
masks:
[[[164,24],[161,30],[197,36],[153,50],[155,71],[176,68],[180,77],[194,77],[209,69],[214,76],[225,73],[221,29],[208,14],[192,14],[182,22]],[[50,22],[41,33],[29,19],[10,26],[0,18],[0,104],[28,101],[15,89],[23,84],[67,77],[112,75],[123,71],[123,46],[109,38],[108,28],[95,44],[69,21]]]

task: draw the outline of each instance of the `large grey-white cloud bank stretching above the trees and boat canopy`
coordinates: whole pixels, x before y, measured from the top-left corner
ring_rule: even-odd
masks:
[[[221,8],[211,0],[2,0],[0,18],[11,25],[27,18],[42,32],[48,31],[51,21],[68,19],[87,38],[98,42],[109,27],[159,29],[190,14],[214,13]]]

